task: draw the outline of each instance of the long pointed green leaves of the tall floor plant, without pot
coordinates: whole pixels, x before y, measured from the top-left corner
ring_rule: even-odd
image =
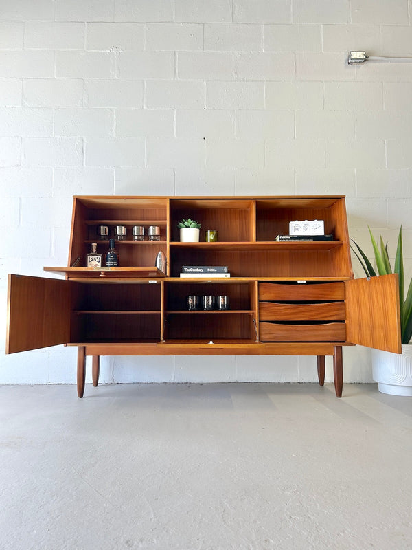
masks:
[[[409,340],[412,338],[412,279],[409,281],[409,287],[407,291],[407,297],[404,298],[404,266],[403,266],[403,252],[402,252],[402,225],[399,230],[398,244],[396,246],[395,263],[393,264],[393,271],[391,263],[389,261],[389,253],[387,244],[383,242],[382,235],[379,236],[379,246],[376,243],[376,239],[369,228],[369,234],[371,237],[372,247],[374,249],[374,256],[376,261],[376,269],[378,273],[372,267],[369,259],[361,247],[351,239],[352,243],[356,246],[357,251],[351,245],[351,248],[356,255],[356,258],[361,262],[363,270],[368,277],[374,277],[376,275],[388,275],[391,273],[398,274],[399,282],[399,297],[400,297],[400,328],[402,344],[409,344]]]

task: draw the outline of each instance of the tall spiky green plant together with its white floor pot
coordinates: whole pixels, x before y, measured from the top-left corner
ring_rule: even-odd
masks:
[[[353,240],[356,249],[351,246],[354,254],[361,262],[363,270],[368,277],[377,275],[398,274],[399,297],[400,297],[400,332],[402,341],[402,354],[390,353],[389,351],[372,350],[372,375],[378,382],[379,391],[393,395],[412,395],[412,279],[409,281],[406,298],[404,299],[404,265],[402,252],[402,227],[399,230],[398,245],[396,247],[395,263],[393,270],[389,261],[387,245],[380,235],[380,245],[369,229],[372,247],[376,261],[374,270],[369,259],[361,247]],[[359,254],[358,254],[359,253]]]

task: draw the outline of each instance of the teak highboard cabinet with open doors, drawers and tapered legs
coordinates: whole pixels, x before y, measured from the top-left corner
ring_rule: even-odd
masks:
[[[179,242],[188,217],[202,224],[198,243]],[[312,219],[334,240],[274,240]],[[84,267],[102,224],[126,225],[120,267]],[[158,225],[160,240],[130,240],[133,225]],[[104,256],[108,241],[97,242]],[[341,397],[342,346],[401,351],[396,275],[354,279],[343,196],[74,197],[69,266],[78,258],[45,267],[65,280],[9,276],[6,353],[77,346],[79,397],[87,355],[95,386],[101,355],[316,355],[321,385],[333,355]],[[180,278],[183,265],[227,265],[231,277]],[[189,294],[227,295],[230,309],[188,311]]]

